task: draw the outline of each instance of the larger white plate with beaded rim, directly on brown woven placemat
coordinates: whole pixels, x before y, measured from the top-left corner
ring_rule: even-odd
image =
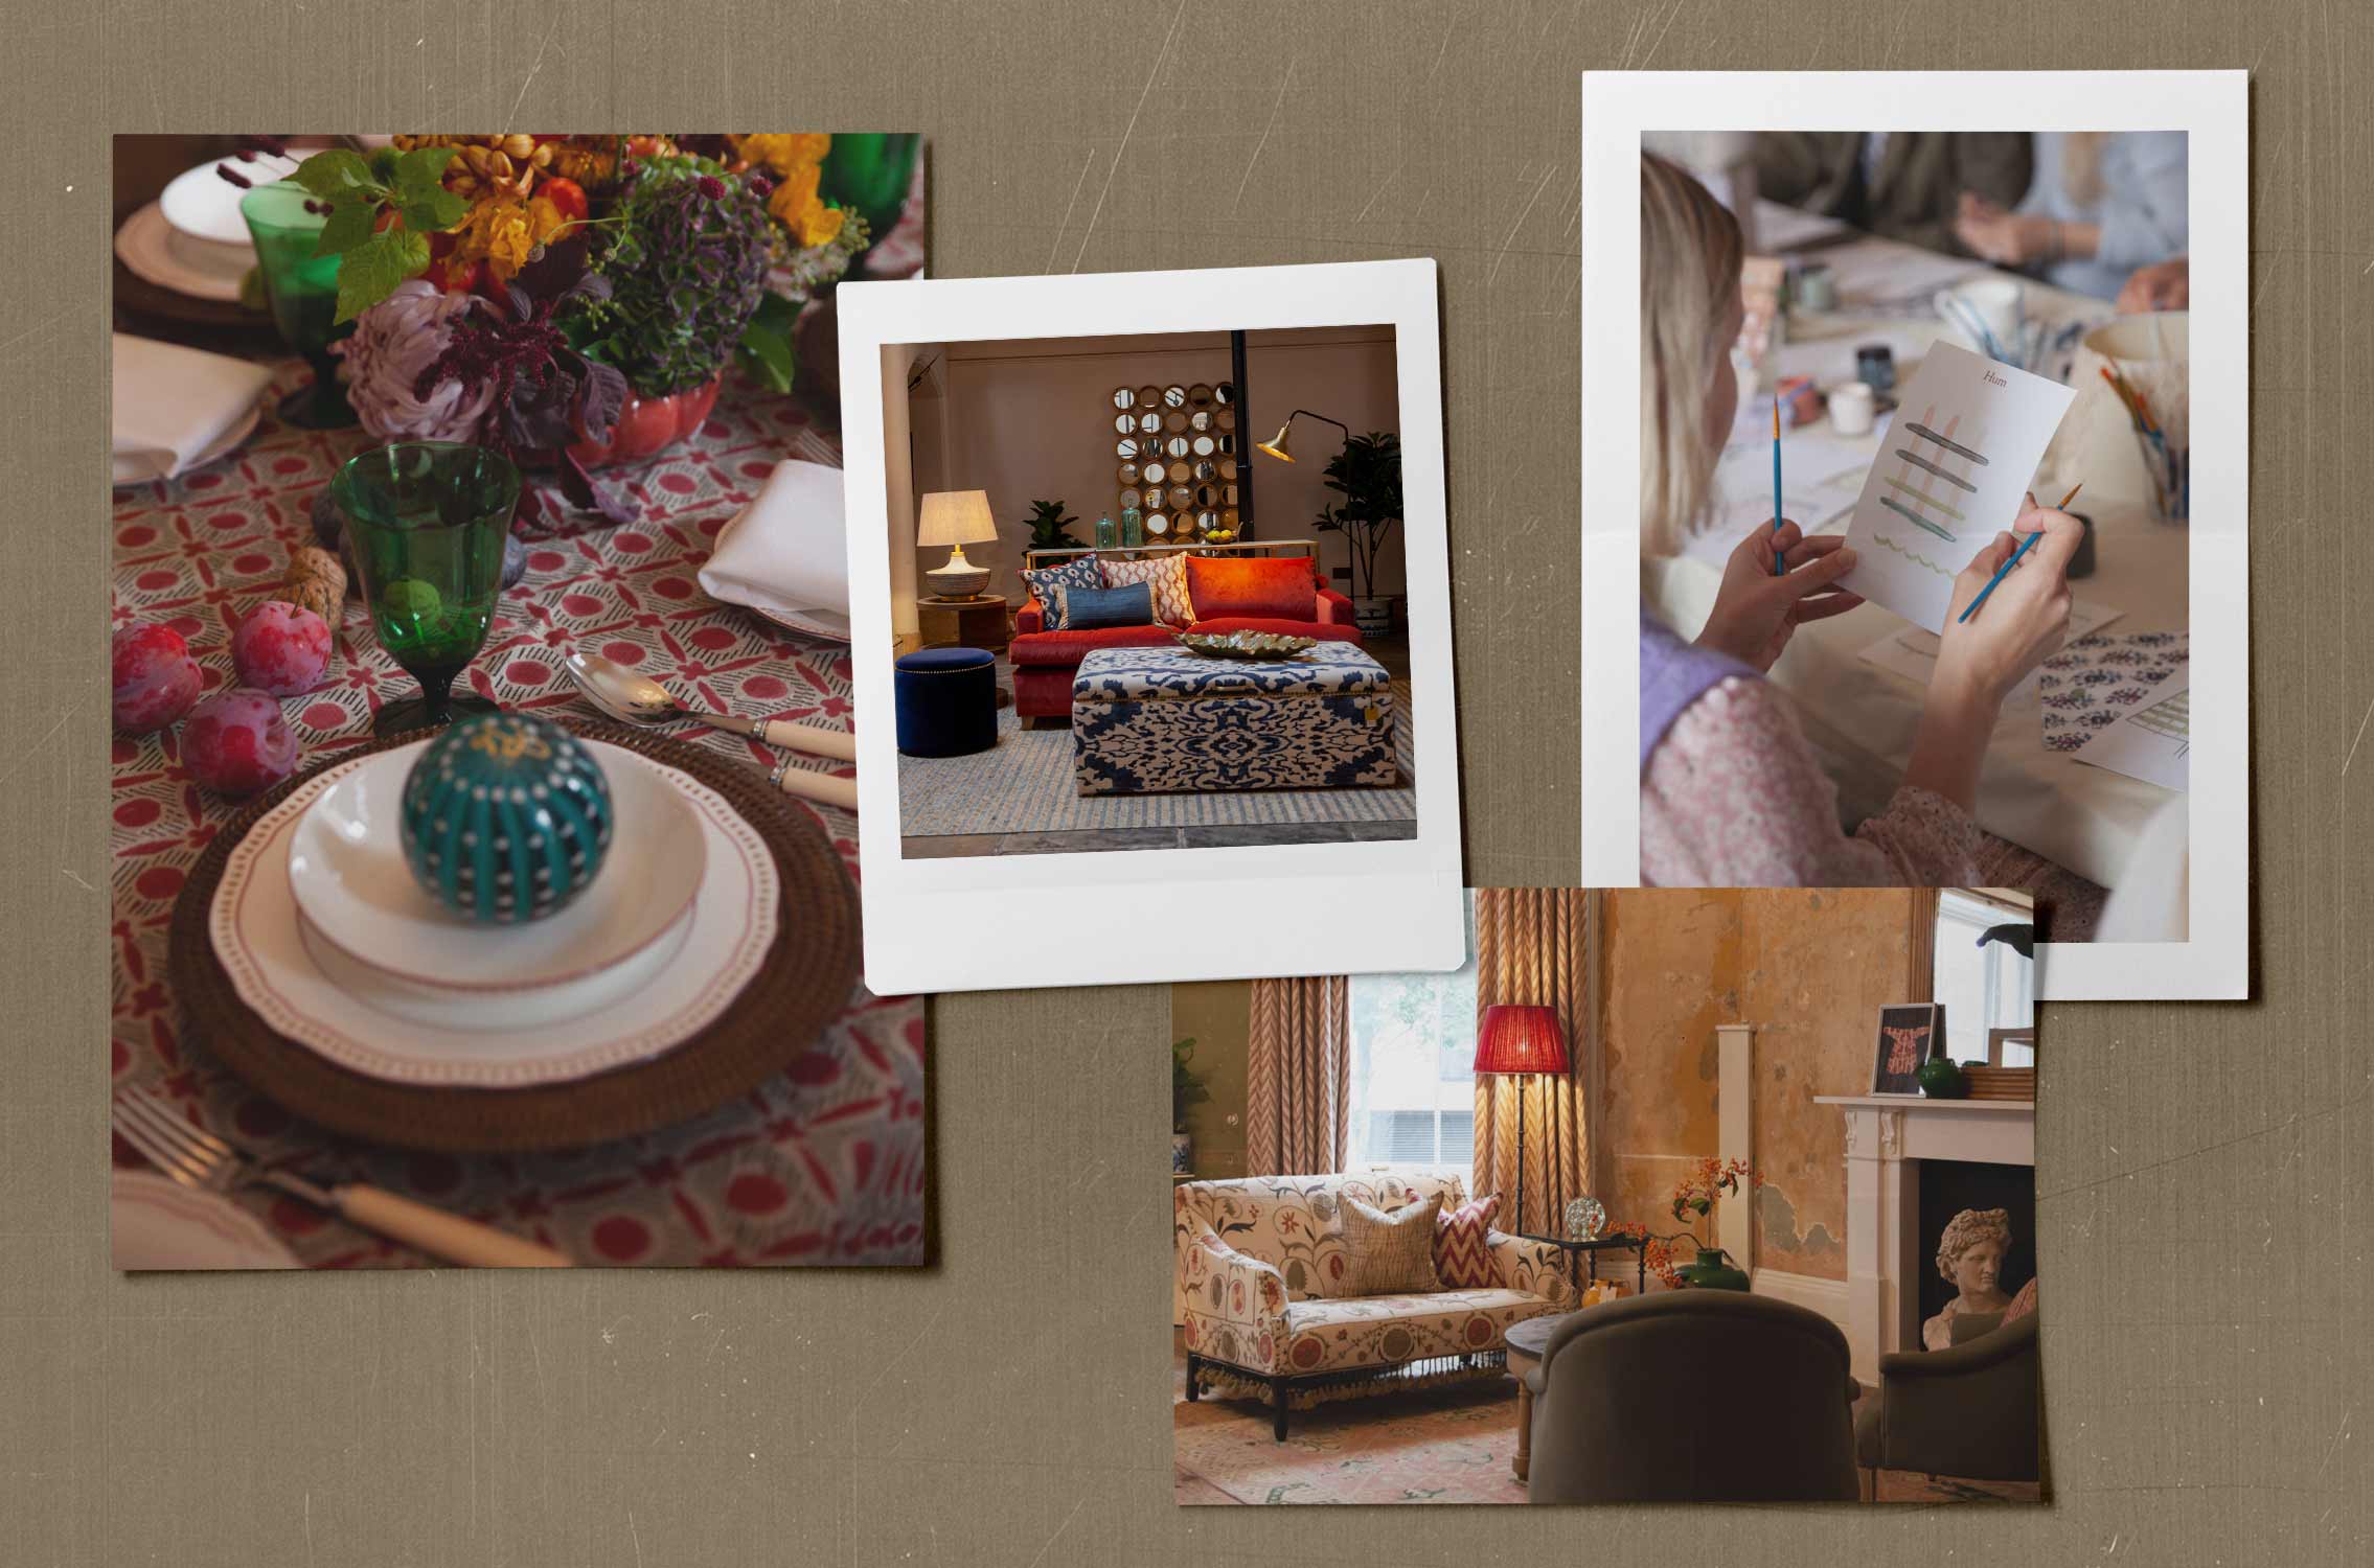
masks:
[[[323,790],[368,761],[358,757],[328,769],[266,811],[233,847],[209,909],[209,937],[240,1001],[271,1030],[339,1067],[399,1084],[468,1089],[520,1089],[608,1072],[679,1046],[715,1022],[774,944],[781,878],[767,842],[715,790],[674,769],[658,769],[691,799],[707,842],[684,946],[641,989],[589,1013],[532,1013],[527,1022],[494,1030],[439,1027],[380,1011],[323,973],[306,949],[285,875],[299,818]],[[594,977],[596,984],[601,980]],[[570,1011],[570,992],[563,984],[482,1001],[541,1001]]]

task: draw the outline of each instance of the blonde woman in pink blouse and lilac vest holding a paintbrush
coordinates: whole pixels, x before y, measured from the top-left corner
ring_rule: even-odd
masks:
[[[1674,555],[1709,512],[1738,413],[1740,228],[1688,173],[1640,159],[1640,553]],[[1640,880],[1664,887],[1968,885],[1989,844],[1970,818],[2004,695],[2068,636],[2080,524],[2035,505],[2044,534],[1987,607],[1956,624],[2013,534],[1954,581],[1904,785],[1852,835],[1837,790],[1764,674],[1797,626],[1854,610],[1842,538],[1757,524],[1731,553],[1707,624],[1683,638],[1640,612]],[[1778,555],[1785,572],[1773,574]]]

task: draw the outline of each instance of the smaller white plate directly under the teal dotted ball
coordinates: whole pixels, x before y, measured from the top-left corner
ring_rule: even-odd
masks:
[[[610,783],[610,852],[591,887],[525,925],[480,925],[404,861],[404,783],[427,740],[373,752],[313,797],[290,837],[290,890],[313,935],[399,987],[537,992],[601,975],[674,930],[700,892],[700,818],[669,773],[589,742]],[[641,965],[648,970],[648,965]]]

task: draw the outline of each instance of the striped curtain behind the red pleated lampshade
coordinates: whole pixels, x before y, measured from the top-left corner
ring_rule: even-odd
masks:
[[[1591,911],[1581,887],[1481,887],[1477,920],[1477,1018],[1496,1003],[1553,1006],[1567,1030],[1564,1077],[1477,1079],[1474,1191],[1500,1193],[1498,1226],[1517,1229],[1517,1103],[1524,1098],[1524,1229],[1560,1231],[1564,1207],[1595,1188],[1588,1108],[1600,1079],[1598,1006],[1591,984]]]

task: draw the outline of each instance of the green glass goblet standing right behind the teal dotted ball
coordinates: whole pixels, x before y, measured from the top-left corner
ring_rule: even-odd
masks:
[[[456,697],[503,593],[503,541],[520,501],[520,470],[503,453],[461,441],[396,441],[358,453],[330,479],[347,517],[347,548],[380,648],[420,681],[420,695],[389,702],[373,733],[491,714],[494,702]]]

